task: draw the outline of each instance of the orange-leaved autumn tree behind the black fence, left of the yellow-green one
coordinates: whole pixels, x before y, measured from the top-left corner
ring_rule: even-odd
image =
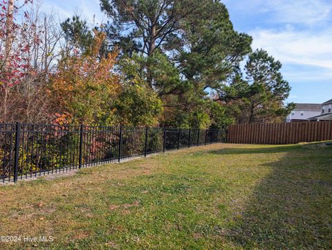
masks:
[[[64,56],[50,83],[50,96],[57,109],[57,123],[111,124],[110,100],[120,92],[120,78],[114,72],[118,53],[98,59],[104,33],[95,32],[88,54],[75,49]]]

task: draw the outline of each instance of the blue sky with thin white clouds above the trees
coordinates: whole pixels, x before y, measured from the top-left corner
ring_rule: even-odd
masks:
[[[289,102],[321,103],[332,98],[331,0],[224,0],[235,30],[253,37],[282,62],[291,84]],[[44,0],[43,8],[60,19],[79,14],[100,24],[99,0]]]

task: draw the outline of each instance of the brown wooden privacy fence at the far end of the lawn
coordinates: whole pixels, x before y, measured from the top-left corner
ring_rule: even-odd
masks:
[[[253,123],[228,127],[228,143],[288,144],[332,140],[332,121]]]

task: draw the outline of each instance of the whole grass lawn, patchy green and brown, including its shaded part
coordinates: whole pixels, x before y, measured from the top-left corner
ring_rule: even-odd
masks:
[[[332,146],[215,144],[0,186],[0,249],[332,249]]]

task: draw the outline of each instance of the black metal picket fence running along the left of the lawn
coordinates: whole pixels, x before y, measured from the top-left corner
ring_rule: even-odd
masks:
[[[225,141],[221,130],[0,123],[0,181]]]

